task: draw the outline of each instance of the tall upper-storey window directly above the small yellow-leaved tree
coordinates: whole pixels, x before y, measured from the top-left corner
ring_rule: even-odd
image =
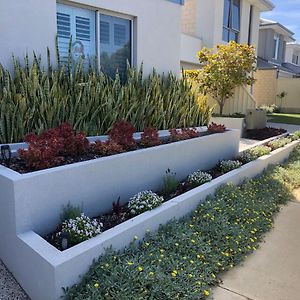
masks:
[[[240,32],[240,0],[224,0],[223,41],[238,42]]]

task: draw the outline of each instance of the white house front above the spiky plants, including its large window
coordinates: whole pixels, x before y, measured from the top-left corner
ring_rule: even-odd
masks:
[[[127,61],[145,73],[180,73],[183,0],[1,0],[0,63],[12,68],[12,55],[53,55],[56,36],[61,60],[94,60],[106,73],[122,72]]]

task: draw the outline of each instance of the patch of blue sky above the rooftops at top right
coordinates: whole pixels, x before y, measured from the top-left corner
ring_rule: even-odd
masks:
[[[271,0],[276,7],[265,12],[262,18],[277,21],[295,32],[295,38],[300,42],[300,0]]]

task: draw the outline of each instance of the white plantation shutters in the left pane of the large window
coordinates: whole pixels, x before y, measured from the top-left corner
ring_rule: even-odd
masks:
[[[57,4],[57,38],[61,61],[67,63],[72,38],[72,58],[93,58],[96,55],[95,12]]]

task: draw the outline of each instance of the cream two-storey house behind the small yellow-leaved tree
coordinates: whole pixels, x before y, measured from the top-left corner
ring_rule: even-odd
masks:
[[[197,52],[202,47],[234,40],[254,45],[259,39],[260,13],[274,5],[269,0],[185,0],[181,20],[181,68],[198,69]],[[240,87],[225,104],[225,114],[246,113],[255,108],[251,87]],[[215,104],[213,99],[210,104]]]

